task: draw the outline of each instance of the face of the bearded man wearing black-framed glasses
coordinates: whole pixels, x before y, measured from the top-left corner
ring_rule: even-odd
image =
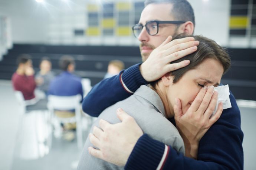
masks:
[[[141,13],[139,23],[145,25],[148,21],[174,21],[174,17],[171,14],[173,5],[170,3],[149,4],[144,8]],[[138,40],[141,41],[140,51],[142,61],[144,62],[152,50],[158,47],[169,35],[180,34],[175,24],[159,24],[158,34],[149,35],[145,27],[143,27]]]

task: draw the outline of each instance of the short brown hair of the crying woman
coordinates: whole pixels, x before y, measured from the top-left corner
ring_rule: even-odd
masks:
[[[200,43],[197,46],[197,51],[193,52],[192,54],[188,54],[183,58],[177,59],[176,61],[171,62],[171,63],[177,63],[177,62],[181,62],[184,60],[190,60],[190,64],[187,65],[186,67],[183,67],[183,68],[180,68],[180,69],[170,72],[170,74],[172,76],[174,76],[173,83],[178,82],[178,80],[187,71],[196,68],[199,64],[201,64],[207,58],[212,58],[212,59],[216,59],[217,61],[219,61],[224,69],[223,74],[225,72],[227,72],[227,70],[229,69],[229,67],[231,65],[231,60],[230,60],[229,54],[227,54],[225,49],[223,49],[215,41],[213,41],[209,38],[203,37],[201,35],[191,36],[186,33],[182,33],[182,34],[179,34],[176,37],[174,37],[173,40],[179,39],[179,38],[185,38],[185,37],[194,37],[195,40],[199,41]],[[157,82],[159,80],[160,79],[158,79],[155,82],[152,82],[151,86],[155,88],[155,85],[157,84]]]

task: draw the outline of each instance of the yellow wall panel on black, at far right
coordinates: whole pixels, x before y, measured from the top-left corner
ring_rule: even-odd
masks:
[[[247,28],[249,19],[247,16],[231,16],[229,19],[229,28],[243,29]]]

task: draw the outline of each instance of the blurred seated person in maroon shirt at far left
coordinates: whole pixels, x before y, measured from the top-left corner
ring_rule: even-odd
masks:
[[[12,76],[12,84],[15,91],[21,91],[25,100],[35,98],[36,82],[35,71],[29,55],[22,54],[17,58],[18,68]]]

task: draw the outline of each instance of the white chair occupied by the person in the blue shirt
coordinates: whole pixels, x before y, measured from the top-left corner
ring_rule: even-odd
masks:
[[[76,123],[76,137],[79,149],[82,149],[82,128],[81,128],[81,95],[75,96],[48,96],[47,107],[51,114],[51,122],[59,120],[62,123]],[[75,110],[75,116],[68,118],[60,118],[55,115],[55,110]],[[50,139],[51,140],[51,139]],[[50,142],[51,143],[51,142]]]

